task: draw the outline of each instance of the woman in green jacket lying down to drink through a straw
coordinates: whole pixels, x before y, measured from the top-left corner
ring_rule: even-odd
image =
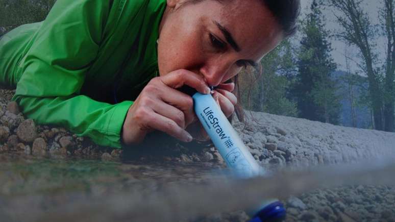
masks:
[[[199,122],[177,89],[216,86],[230,116],[229,80],[294,33],[299,8],[299,0],[58,0],[43,22],[0,39],[0,83],[16,87],[27,117],[100,145],[136,144],[153,130],[189,142]]]

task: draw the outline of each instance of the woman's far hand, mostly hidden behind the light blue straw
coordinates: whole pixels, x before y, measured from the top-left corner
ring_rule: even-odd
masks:
[[[214,100],[217,102],[226,117],[230,117],[235,111],[237,97],[232,93],[234,89],[234,83],[223,83],[219,84],[213,90],[212,95],[214,97]],[[200,121],[193,122],[191,125],[189,125],[187,131],[196,140],[206,141],[210,139]]]

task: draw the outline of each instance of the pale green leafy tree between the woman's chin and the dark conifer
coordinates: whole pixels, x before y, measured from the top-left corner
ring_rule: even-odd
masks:
[[[277,115],[297,116],[296,104],[286,97],[290,86],[289,76],[295,70],[293,49],[284,40],[261,61],[262,72],[254,76],[241,73],[242,104],[245,108]],[[255,84],[251,84],[255,83]],[[253,87],[253,88],[251,88]]]

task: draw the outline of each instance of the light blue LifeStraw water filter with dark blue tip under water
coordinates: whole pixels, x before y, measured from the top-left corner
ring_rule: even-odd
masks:
[[[196,92],[192,96],[194,111],[224,161],[238,178],[264,175],[265,170],[240,139],[211,94]],[[286,211],[277,200],[266,200],[252,213],[251,222],[282,221]]]

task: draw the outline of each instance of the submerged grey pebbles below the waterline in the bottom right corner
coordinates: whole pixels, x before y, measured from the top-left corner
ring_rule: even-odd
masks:
[[[391,201],[394,194],[395,187],[391,186],[359,185],[313,190],[299,196],[299,201],[291,197],[285,202],[286,221],[395,222],[395,208]]]

